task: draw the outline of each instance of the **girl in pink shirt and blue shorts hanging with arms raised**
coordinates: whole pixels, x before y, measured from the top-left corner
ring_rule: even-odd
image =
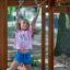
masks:
[[[39,13],[39,8],[37,8],[37,14],[31,25],[27,20],[22,18],[16,21],[14,40],[14,48],[16,49],[16,52],[14,56],[14,61],[8,70],[16,70],[21,65],[24,65],[26,70],[31,70],[30,49],[32,49],[32,36],[35,34],[35,23]]]

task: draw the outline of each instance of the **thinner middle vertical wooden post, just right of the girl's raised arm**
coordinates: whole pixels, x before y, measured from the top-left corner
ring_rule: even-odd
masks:
[[[45,70],[45,9],[42,7],[42,70]]]

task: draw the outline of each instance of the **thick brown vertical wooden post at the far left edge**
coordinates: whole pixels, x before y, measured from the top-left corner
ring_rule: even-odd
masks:
[[[0,0],[0,69],[7,69],[7,0]]]

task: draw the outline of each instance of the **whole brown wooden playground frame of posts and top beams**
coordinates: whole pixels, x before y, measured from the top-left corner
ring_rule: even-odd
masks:
[[[37,0],[37,3],[42,3],[45,0]],[[55,4],[61,3],[65,7]],[[68,5],[70,0],[46,0],[42,4],[42,70],[45,70],[45,13],[49,13],[48,23],[48,70],[54,70],[54,13],[58,12],[70,12],[70,7]],[[18,7],[18,0],[0,0],[0,69],[5,70],[8,68],[8,24],[7,24],[7,13],[8,7]],[[24,0],[23,7],[35,5],[34,0]],[[48,8],[46,8],[48,5]]]

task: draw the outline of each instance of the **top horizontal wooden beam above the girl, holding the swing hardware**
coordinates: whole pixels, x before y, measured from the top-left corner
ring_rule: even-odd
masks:
[[[44,2],[45,1],[45,2]],[[47,0],[37,0],[37,3],[46,3]],[[19,0],[8,0],[8,7],[18,7],[19,5]],[[23,7],[28,7],[28,5],[35,5],[35,0],[24,0]]]

